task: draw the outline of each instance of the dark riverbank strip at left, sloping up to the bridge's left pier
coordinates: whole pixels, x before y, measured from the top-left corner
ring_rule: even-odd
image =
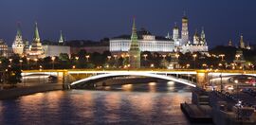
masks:
[[[26,86],[0,91],[0,99],[18,98],[21,96],[42,93],[47,91],[63,90],[64,86],[60,83],[46,83],[36,86]]]

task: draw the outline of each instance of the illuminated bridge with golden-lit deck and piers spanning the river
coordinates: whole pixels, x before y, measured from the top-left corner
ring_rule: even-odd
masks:
[[[141,69],[141,70],[92,70],[92,69],[70,69],[70,70],[27,70],[22,76],[35,74],[56,76],[63,83],[77,85],[91,80],[101,80],[115,77],[137,76],[149,77],[161,80],[172,80],[192,87],[204,86],[210,79],[220,76],[251,75],[256,76],[255,71],[243,70],[169,70],[169,69]]]

